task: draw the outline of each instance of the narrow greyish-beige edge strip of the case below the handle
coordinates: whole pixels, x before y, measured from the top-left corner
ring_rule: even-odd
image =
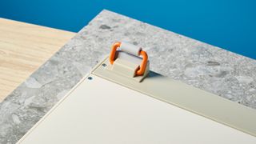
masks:
[[[108,58],[104,61],[108,63]],[[142,82],[98,66],[94,74],[256,136],[256,110],[150,71]]]

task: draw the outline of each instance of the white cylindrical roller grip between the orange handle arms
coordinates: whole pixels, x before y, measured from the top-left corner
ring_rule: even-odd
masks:
[[[120,46],[120,49],[122,51],[125,51],[126,53],[133,54],[133,55],[136,55],[136,56],[139,56],[139,52],[142,50],[141,47],[134,46],[134,45],[132,45],[128,42],[122,42],[121,46]]]

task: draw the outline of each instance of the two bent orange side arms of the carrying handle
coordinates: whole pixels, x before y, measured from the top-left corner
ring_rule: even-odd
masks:
[[[114,56],[115,56],[115,53],[118,49],[118,47],[121,46],[121,42],[116,42],[114,43],[114,45],[112,46],[112,50],[110,52],[110,64],[113,65],[114,63]],[[146,70],[146,65],[147,65],[147,54],[145,51],[141,50],[140,55],[142,55],[142,63],[141,65],[138,67],[138,70],[136,71],[136,75],[143,75],[145,70]]]

